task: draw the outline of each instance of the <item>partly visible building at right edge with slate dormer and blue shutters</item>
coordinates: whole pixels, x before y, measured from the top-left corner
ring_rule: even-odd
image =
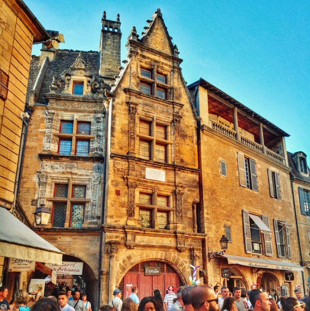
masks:
[[[307,155],[299,151],[287,153],[291,171],[291,190],[299,236],[300,264],[304,267],[304,284],[310,287],[310,171]]]

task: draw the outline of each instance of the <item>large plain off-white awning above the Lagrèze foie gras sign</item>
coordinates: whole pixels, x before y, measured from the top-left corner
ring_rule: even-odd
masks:
[[[63,252],[0,207],[0,256],[62,263]]]

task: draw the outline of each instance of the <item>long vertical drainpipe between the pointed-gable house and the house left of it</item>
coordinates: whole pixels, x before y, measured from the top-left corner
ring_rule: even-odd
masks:
[[[106,107],[106,133],[104,141],[104,165],[103,165],[103,185],[102,185],[102,202],[101,202],[101,225],[100,225],[100,239],[99,239],[99,256],[98,256],[98,282],[97,282],[97,305],[96,309],[100,307],[100,276],[101,276],[101,262],[102,262],[102,240],[103,240],[103,216],[104,216],[104,199],[105,199],[105,189],[106,189],[106,163],[107,163],[107,132],[108,132],[108,117],[109,117],[109,107]]]

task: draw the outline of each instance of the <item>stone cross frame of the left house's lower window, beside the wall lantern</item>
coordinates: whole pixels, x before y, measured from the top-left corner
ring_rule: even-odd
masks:
[[[83,215],[83,223],[85,222],[85,211],[90,208],[91,202],[91,193],[90,193],[90,181],[91,179],[79,179],[79,178],[62,178],[59,179],[57,177],[51,177],[49,180],[49,186],[52,189],[52,197],[46,197],[48,202],[52,203],[52,215],[51,215],[51,227],[53,227],[53,213],[54,213],[54,203],[66,203],[66,215],[65,215],[65,224],[64,228],[71,228],[71,213],[72,213],[72,206],[76,203],[80,203],[81,205],[84,204],[84,215]],[[67,188],[67,197],[55,197],[55,189],[57,184],[68,185]],[[85,187],[85,198],[76,198],[73,197],[73,187],[74,186],[84,186]],[[49,205],[49,204],[48,204]]]

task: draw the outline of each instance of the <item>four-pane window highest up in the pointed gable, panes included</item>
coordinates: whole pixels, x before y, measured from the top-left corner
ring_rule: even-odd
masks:
[[[140,91],[142,93],[167,99],[166,83],[167,76],[158,73],[157,70],[140,69]]]

